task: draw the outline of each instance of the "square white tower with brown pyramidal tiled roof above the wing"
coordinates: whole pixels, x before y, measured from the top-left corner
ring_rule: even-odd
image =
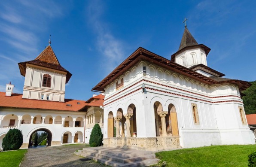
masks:
[[[65,84],[72,74],[61,66],[50,45],[34,60],[18,66],[25,76],[22,98],[64,102]]]

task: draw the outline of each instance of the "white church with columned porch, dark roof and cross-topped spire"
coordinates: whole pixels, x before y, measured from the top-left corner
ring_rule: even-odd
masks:
[[[185,26],[171,59],[140,47],[92,88],[105,92],[104,146],[162,150],[255,144],[240,93],[250,83],[223,78],[208,67],[209,52]]]

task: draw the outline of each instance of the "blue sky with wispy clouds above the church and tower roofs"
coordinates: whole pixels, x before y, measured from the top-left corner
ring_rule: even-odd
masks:
[[[160,3],[159,3],[160,2]],[[48,46],[73,74],[66,98],[87,100],[101,79],[138,47],[170,59],[184,18],[198,43],[211,48],[209,67],[226,78],[256,80],[254,0],[9,0],[0,3],[0,91],[22,93],[18,62]]]

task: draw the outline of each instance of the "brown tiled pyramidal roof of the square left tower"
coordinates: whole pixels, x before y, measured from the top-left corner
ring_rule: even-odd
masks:
[[[26,75],[27,64],[34,64],[41,67],[67,72],[66,83],[72,76],[68,70],[61,66],[51,46],[47,46],[46,49],[44,49],[43,52],[35,58],[35,60],[18,63],[22,76]]]

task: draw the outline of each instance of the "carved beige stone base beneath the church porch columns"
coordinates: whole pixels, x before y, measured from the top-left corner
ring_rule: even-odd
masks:
[[[105,147],[122,147],[148,151],[168,150],[180,147],[180,137],[109,137],[103,139]]]

